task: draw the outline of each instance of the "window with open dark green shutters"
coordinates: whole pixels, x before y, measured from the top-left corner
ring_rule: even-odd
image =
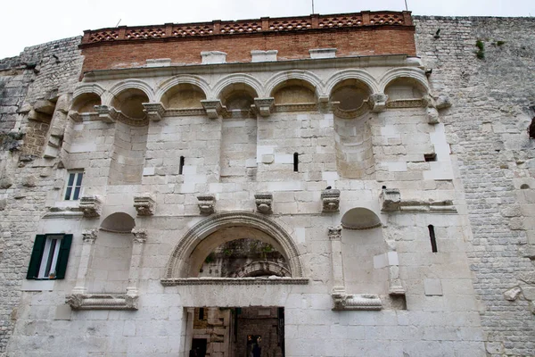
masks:
[[[71,243],[72,235],[37,235],[26,278],[65,278]]]

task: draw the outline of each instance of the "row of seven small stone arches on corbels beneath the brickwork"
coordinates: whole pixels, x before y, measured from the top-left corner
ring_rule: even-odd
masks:
[[[207,114],[215,119],[321,110],[350,119],[387,108],[433,105],[418,68],[392,69],[379,80],[364,70],[339,71],[325,81],[310,71],[282,71],[265,83],[235,73],[213,85],[193,75],[165,79],[156,87],[141,79],[125,79],[110,88],[82,84],[75,90],[70,117],[146,125],[166,116]]]

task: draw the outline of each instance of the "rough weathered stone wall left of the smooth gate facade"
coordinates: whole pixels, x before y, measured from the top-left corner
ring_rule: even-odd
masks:
[[[5,347],[19,318],[17,306],[21,303],[21,283],[26,277],[37,223],[45,213],[46,195],[56,182],[50,169],[57,160],[19,161],[21,154],[42,153],[49,125],[29,121],[27,113],[17,112],[23,104],[31,105],[37,99],[72,93],[83,62],[78,50],[79,41],[80,37],[72,37],[27,47],[20,56],[0,61],[0,83],[4,83],[4,88],[0,84],[0,130],[13,129],[19,120],[21,132],[26,133],[22,148],[32,148],[0,152],[0,180],[11,184],[0,188],[0,234],[4,242],[4,255],[0,259],[2,357],[6,355]],[[37,186],[28,186],[30,176]]]

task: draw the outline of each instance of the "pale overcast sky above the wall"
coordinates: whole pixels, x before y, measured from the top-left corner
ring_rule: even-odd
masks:
[[[535,16],[535,0],[407,0],[416,15]],[[315,13],[404,10],[404,0],[314,0]],[[84,29],[312,13],[312,0],[26,0],[0,12],[0,58],[26,46],[82,35]]]

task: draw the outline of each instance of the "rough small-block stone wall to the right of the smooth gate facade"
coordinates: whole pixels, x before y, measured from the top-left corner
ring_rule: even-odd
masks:
[[[416,17],[415,23],[418,55],[433,70],[432,90],[453,102],[442,120],[465,188],[473,232],[467,252],[487,353],[533,355],[528,301],[509,302],[503,293],[522,286],[518,278],[534,270],[522,251],[535,241],[518,224],[532,215],[512,209],[519,180],[534,174],[535,143],[526,128],[535,105],[535,19]],[[482,60],[477,40],[484,44]]]

